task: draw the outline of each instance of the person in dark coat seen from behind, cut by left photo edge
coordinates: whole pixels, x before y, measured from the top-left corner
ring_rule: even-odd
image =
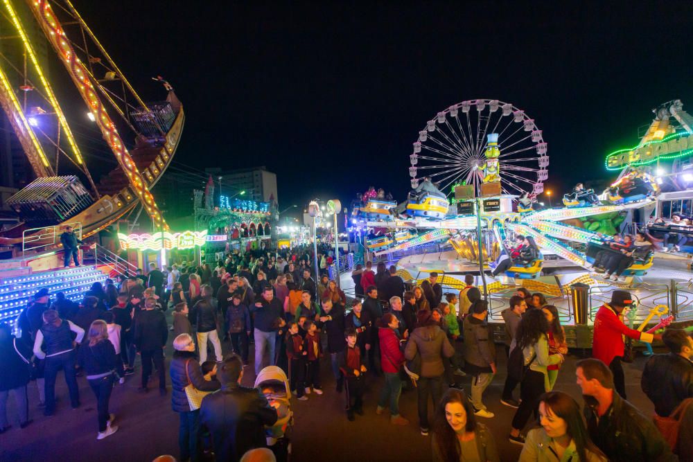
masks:
[[[15,339],[10,326],[0,324],[0,434],[10,428],[6,409],[10,391],[15,394],[19,427],[24,428],[32,422],[28,418],[29,408],[26,399],[30,358],[31,350],[26,343]]]

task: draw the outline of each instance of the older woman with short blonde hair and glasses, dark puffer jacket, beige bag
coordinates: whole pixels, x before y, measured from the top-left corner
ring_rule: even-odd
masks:
[[[198,435],[200,433],[200,409],[191,409],[185,387],[193,384],[200,391],[216,391],[221,385],[217,380],[204,380],[202,369],[195,356],[195,342],[187,334],[173,340],[173,359],[170,364],[171,407],[180,416],[178,446],[180,460],[198,460]]]

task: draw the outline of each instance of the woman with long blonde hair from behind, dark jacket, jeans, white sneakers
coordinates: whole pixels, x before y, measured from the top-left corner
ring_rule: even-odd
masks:
[[[118,427],[112,425],[116,416],[108,413],[108,402],[113,390],[117,357],[116,350],[108,339],[108,328],[105,321],[97,319],[91,323],[87,342],[80,348],[78,357],[80,365],[87,374],[89,387],[96,396],[98,418],[96,439],[103,440],[103,438],[118,431]]]

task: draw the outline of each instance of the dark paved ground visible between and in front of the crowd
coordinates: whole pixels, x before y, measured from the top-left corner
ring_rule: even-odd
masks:
[[[225,344],[225,352],[228,349]],[[170,358],[170,341],[168,347]],[[574,383],[576,353],[568,357],[559,375],[556,389],[566,391],[581,401],[579,389]],[[502,346],[498,357],[505,359]],[[342,396],[335,393],[334,380],[327,361],[322,364],[324,377],[323,396],[310,394],[304,402],[294,400],[295,434],[293,438],[295,461],[428,461],[430,438],[421,436],[416,419],[416,391],[404,393],[401,414],[412,420],[408,427],[389,424],[385,414],[376,415],[376,401],[382,378],[369,377],[365,396],[365,416],[357,416],[349,422],[344,414]],[[640,371],[644,358],[625,366],[626,388],[629,399],[644,414],[653,414],[653,407],[640,391]],[[170,391],[161,397],[153,392],[137,393],[137,374],[128,377],[123,385],[116,385],[111,398],[111,411],[116,413],[119,432],[103,441],[96,441],[96,400],[84,377],[80,377],[82,407],[69,407],[67,388],[62,376],[58,377],[56,394],[60,398],[55,416],[44,417],[37,409],[35,384],[29,384],[30,414],[34,423],[19,429],[14,403],[10,398],[12,429],[0,435],[0,462],[15,461],[151,461],[161,454],[177,456],[178,415],[170,409]],[[247,368],[243,381],[254,382],[252,368]],[[505,364],[501,364],[499,376],[486,391],[486,405],[495,412],[495,418],[484,419],[489,425],[502,454],[503,461],[516,461],[520,447],[507,442],[513,409],[500,404],[500,392],[505,380]],[[462,377],[460,386],[469,391],[469,377]],[[153,384],[156,387],[156,384]],[[170,385],[169,385],[170,387]],[[519,390],[518,390],[519,391]],[[517,392],[518,392],[517,391]]]

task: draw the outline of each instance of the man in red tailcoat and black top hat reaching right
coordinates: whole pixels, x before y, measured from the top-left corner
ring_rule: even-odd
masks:
[[[608,364],[613,372],[613,382],[617,393],[626,399],[626,386],[621,359],[624,355],[624,336],[651,344],[662,339],[661,335],[648,334],[626,327],[623,323],[623,310],[626,306],[634,309],[631,294],[625,290],[614,290],[611,303],[604,303],[595,317],[595,331],[592,344],[592,357]]]

